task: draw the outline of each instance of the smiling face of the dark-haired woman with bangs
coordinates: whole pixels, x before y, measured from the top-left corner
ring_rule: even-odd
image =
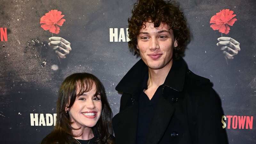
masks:
[[[80,88],[77,90],[77,94]],[[101,115],[101,97],[96,94],[96,85],[93,84],[89,92],[76,97],[76,100],[69,110],[69,117],[74,122],[73,127],[93,127]]]

